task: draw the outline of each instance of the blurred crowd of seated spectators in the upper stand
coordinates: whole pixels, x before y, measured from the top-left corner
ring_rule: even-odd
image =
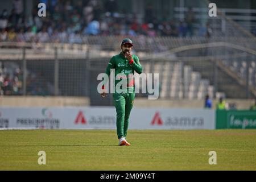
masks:
[[[24,16],[22,0],[13,0],[13,9],[0,14],[0,41],[81,43],[84,35],[193,36],[192,9],[184,21],[157,20],[152,5],[145,7],[144,19],[126,9],[117,12],[117,1],[38,1],[30,16]],[[38,16],[38,3],[46,3],[46,17]],[[209,36],[202,28],[201,36]]]

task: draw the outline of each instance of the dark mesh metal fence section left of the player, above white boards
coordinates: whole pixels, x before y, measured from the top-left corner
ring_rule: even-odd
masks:
[[[55,51],[53,59],[27,59],[26,48],[23,48],[22,59],[1,60],[1,75],[5,75],[12,85],[3,89],[3,94],[88,96],[85,89],[86,82],[89,82],[86,57],[59,59],[57,49]],[[19,85],[16,92],[13,88],[15,79]]]

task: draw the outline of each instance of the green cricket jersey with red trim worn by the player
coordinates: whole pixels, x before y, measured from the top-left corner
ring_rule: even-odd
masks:
[[[118,55],[113,56],[106,68],[105,73],[110,76],[110,69],[115,69],[115,78],[118,75],[118,79],[115,79],[114,85],[117,85],[122,79],[127,79],[127,91],[134,90],[134,78],[129,78],[129,74],[134,74],[134,71],[138,74],[142,73],[142,65],[139,63],[139,58],[136,55],[132,55],[133,63],[129,64],[129,61],[123,55],[123,52],[120,52]],[[125,88],[121,88],[125,89]]]

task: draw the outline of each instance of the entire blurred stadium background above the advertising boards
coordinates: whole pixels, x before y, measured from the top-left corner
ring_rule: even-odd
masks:
[[[253,0],[0,1],[0,106],[113,105],[97,76],[129,37],[143,72],[159,73],[159,99],[135,106],[249,109],[255,35]]]

